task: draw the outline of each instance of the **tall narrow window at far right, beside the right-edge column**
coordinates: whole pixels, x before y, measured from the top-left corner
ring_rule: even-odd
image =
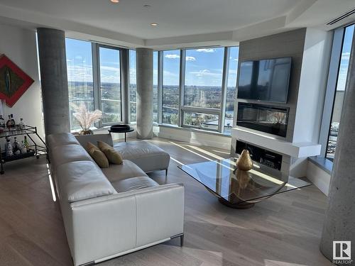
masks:
[[[342,52],[340,55],[338,76],[337,76],[337,87],[335,89],[334,104],[332,111],[332,121],[329,128],[329,136],[327,143],[327,153],[326,157],[329,160],[334,159],[335,150],[337,148],[337,139],[339,125],[341,123],[340,117],[342,115],[345,87],[346,87],[346,77],[349,69],[349,57],[351,52],[351,43],[354,35],[354,24],[344,28],[344,35],[342,39]]]

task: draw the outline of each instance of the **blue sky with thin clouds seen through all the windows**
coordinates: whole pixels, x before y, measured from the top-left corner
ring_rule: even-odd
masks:
[[[338,77],[337,90],[344,90],[346,73],[349,65],[351,40],[354,25],[346,28],[342,50],[342,60]],[[92,82],[92,48],[91,43],[66,39],[68,80],[78,82]],[[116,50],[101,48],[101,79],[102,82],[117,82],[119,79],[119,60]],[[185,84],[187,86],[221,86],[224,48],[202,48],[186,51]],[[236,67],[238,64],[239,48],[231,48],[229,57],[228,87],[236,85]],[[136,83],[136,55],[130,50],[130,79]],[[165,85],[179,84],[180,50],[163,52],[163,82]],[[158,81],[158,56],[154,52],[153,83]]]

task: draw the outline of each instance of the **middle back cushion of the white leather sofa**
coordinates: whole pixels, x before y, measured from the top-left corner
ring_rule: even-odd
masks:
[[[81,145],[69,144],[52,148],[50,160],[52,169],[55,170],[59,165],[64,163],[75,161],[90,161],[92,160],[92,157],[90,157],[90,155],[84,148],[82,148]]]

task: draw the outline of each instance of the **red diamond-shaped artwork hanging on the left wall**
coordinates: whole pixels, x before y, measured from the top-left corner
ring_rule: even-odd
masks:
[[[0,99],[12,107],[33,84],[28,74],[23,72],[6,55],[0,55]]]

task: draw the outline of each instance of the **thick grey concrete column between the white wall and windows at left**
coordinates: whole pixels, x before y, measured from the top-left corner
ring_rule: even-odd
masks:
[[[70,132],[64,31],[38,28],[45,135]]]

